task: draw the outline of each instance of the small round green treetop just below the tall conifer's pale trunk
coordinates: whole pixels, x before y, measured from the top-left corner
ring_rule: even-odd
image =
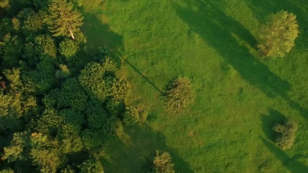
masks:
[[[59,53],[65,58],[69,59],[70,57],[74,56],[77,51],[78,45],[75,41],[65,38],[63,41],[60,42]]]

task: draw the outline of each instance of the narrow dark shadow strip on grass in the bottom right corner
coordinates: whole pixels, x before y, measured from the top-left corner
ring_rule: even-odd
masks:
[[[283,165],[290,170],[290,172],[295,173],[308,171],[308,167],[306,165],[296,160],[297,158],[301,157],[300,155],[298,157],[291,158],[274,143],[262,137],[260,137],[260,140],[268,148],[268,150],[270,150],[276,156],[276,158],[278,158],[283,163]]]

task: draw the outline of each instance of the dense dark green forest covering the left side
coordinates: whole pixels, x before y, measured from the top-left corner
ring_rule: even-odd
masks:
[[[120,57],[87,49],[79,1],[0,3],[0,172],[103,172],[91,150],[138,115]]]

